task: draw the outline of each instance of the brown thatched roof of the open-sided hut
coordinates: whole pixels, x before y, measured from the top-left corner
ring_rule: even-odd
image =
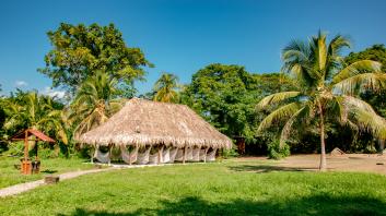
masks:
[[[232,141],[185,105],[132,98],[104,124],[80,136],[90,145],[210,146]]]

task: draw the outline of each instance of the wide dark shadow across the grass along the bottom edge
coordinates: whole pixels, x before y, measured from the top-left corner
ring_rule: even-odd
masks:
[[[160,208],[139,208],[129,213],[77,208],[72,216],[131,215],[385,215],[386,203],[363,196],[318,195],[291,201],[253,202],[235,200],[210,203],[200,197],[185,197],[177,202],[161,201]]]

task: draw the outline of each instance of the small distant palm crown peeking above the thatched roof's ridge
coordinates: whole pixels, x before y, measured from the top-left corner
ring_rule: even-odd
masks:
[[[178,101],[178,77],[172,73],[163,73],[154,84],[153,100],[164,103]]]

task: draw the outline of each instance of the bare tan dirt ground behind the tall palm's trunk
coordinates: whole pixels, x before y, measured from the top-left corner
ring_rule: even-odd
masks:
[[[261,159],[267,157],[242,157],[237,160]],[[293,155],[271,166],[261,166],[261,172],[272,170],[316,171],[320,161],[319,155]],[[386,175],[386,155],[344,154],[327,155],[327,167],[330,171],[361,171]]]

